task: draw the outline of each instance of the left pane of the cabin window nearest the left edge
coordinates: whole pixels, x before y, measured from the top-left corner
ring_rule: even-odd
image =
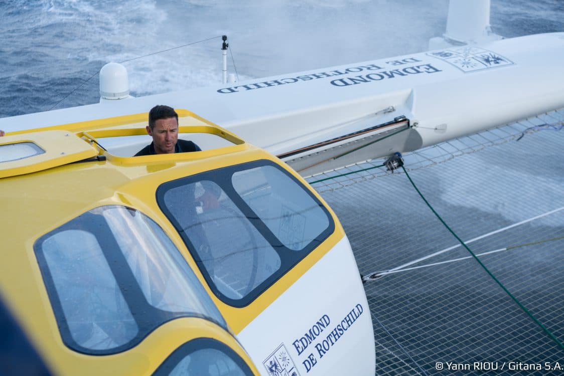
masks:
[[[76,343],[104,350],[135,337],[137,324],[94,235],[58,232],[43,242],[43,253]]]

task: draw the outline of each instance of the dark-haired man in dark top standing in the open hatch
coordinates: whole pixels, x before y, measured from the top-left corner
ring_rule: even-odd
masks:
[[[201,151],[192,141],[178,139],[178,114],[172,107],[156,105],[151,108],[146,129],[153,142],[135,154],[135,157]]]

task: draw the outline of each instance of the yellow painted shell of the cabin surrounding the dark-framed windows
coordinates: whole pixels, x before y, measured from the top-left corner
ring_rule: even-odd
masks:
[[[34,255],[33,244],[45,233],[94,207],[126,205],[155,220],[178,247],[235,334],[253,321],[344,236],[341,225],[329,209],[336,228],[323,244],[248,306],[235,308],[221,302],[211,292],[182,239],[158,207],[156,189],[162,183],[173,179],[249,161],[266,159],[285,169],[288,167],[271,154],[244,143],[231,132],[184,110],[177,111],[185,117],[182,123],[185,124],[183,127],[187,128],[181,130],[211,132],[231,140],[234,145],[202,152],[144,157],[115,157],[100,151],[107,160],[72,163],[0,179],[0,207],[3,211],[0,216],[0,293],[25,332],[37,345],[39,353],[56,373],[100,374],[100,369],[103,369],[106,374],[150,374],[180,344],[197,337],[221,340],[249,362],[230,334],[215,324],[195,318],[172,320],[157,328],[131,350],[116,355],[90,356],[67,348],[60,338]],[[85,139],[102,137],[112,132],[119,133],[120,129],[125,132],[138,132],[144,130],[142,118],[144,120],[146,116],[147,114],[138,114],[114,118],[113,122],[106,119],[76,123],[67,125],[67,129],[63,126],[51,127],[49,132],[70,129]],[[132,122],[136,125],[133,126]],[[195,128],[190,129],[191,127]],[[57,128],[59,130],[53,130]],[[26,133],[16,137],[38,136]],[[92,149],[86,141],[75,138]],[[64,149],[66,145],[60,144],[60,148]],[[296,172],[290,172],[308,186]],[[313,192],[327,207],[319,194]],[[258,374],[256,369],[253,370]]]

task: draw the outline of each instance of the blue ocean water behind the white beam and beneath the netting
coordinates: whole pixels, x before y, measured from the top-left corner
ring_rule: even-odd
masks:
[[[564,31],[564,0],[491,3],[492,29],[502,36]],[[0,0],[0,118],[98,102],[96,73],[110,61],[124,61],[134,96],[221,82],[222,34],[229,37],[232,52],[228,69],[235,73],[236,67],[240,79],[420,52],[429,38],[444,32],[447,9],[448,0]],[[198,41],[204,42],[194,43]],[[183,45],[188,46],[153,54]],[[520,142],[528,140],[527,136]],[[423,188],[427,182],[424,192],[448,223],[458,224],[457,231],[461,229],[466,240],[564,205],[564,162],[554,158],[561,145],[549,149],[539,143],[527,154],[519,150],[506,156],[502,150],[493,157],[465,156],[459,158],[462,162],[455,160],[457,165],[440,166],[439,172],[426,169],[414,175]],[[545,178],[535,176],[539,165],[546,165]],[[405,179],[400,180],[404,176],[388,177],[385,182],[369,181],[324,194],[345,227],[363,274],[396,267],[454,243],[442,228],[428,227],[433,218],[426,207],[412,204],[418,199]],[[407,200],[408,196],[413,197]],[[371,205],[366,197],[372,198]],[[518,228],[519,233],[488,238],[478,250],[563,235],[562,215],[549,219],[531,224],[534,231]],[[562,241],[487,262],[528,306],[541,307],[543,321],[552,324],[562,339],[561,249]],[[447,254],[444,259],[447,256],[461,255]],[[374,317],[395,329],[394,338],[431,370],[429,374],[435,361],[462,362],[471,355],[491,361],[505,359],[499,355],[505,353],[508,360],[522,361],[561,355],[547,350],[550,341],[518,316],[520,312],[497,315],[499,307],[510,311],[512,302],[500,298],[487,277],[477,285],[478,271],[472,264],[422,270],[427,272],[398,281],[382,278],[387,284],[370,285],[367,295]],[[508,325],[513,317],[519,320]],[[444,328],[445,323],[452,324],[452,331]],[[475,343],[450,340],[457,338],[459,328],[468,342]],[[378,345],[387,346],[386,351],[377,347],[379,366],[386,364],[388,349],[399,354],[396,358],[402,364],[410,364],[376,321],[374,335]],[[489,337],[482,343],[474,340],[479,336]],[[460,347],[465,357],[453,355]],[[389,364],[390,374],[400,374],[399,363]]]

